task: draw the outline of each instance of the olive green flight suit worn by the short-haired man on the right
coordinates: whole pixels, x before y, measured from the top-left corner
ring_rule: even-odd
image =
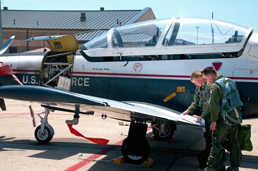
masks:
[[[223,75],[219,75],[214,81],[220,79]],[[209,108],[211,114],[211,121],[216,122],[216,130],[212,132],[212,149],[207,162],[210,167],[218,167],[221,158],[225,154],[225,149],[222,148],[223,142],[228,139],[230,143],[230,162],[232,167],[239,167],[241,163],[240,155],[241,149],[238,140],[238,126],[226,125],[223,116],[221,115],[220,108],[223,99],[223,90],[218,83],[213,83],[210,87]],[[230,112],[240,113],[240,108]],[[231,122],[228,120],[228,122]],[[232,122],[231,122],[232,123]]]

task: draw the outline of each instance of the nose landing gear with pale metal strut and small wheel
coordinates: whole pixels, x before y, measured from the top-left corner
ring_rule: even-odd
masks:
[[[51,141],[53,135],[55,134],[53,127],[49,125],[47,121],[47,117],[50,112],[54,112],[54,110],[45,108],[45,112],[37,114],[41,119],[41,124],[36,128],[34,135],[36,140],[40,143],[48,143]],[[45,113],[44,118],[40,116],[40,114],[43,113]]]

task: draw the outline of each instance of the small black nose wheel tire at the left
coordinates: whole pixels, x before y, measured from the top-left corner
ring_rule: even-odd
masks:
[[[53,138],[53,135],[51,135],[50,129],[45,125],[44,132],[41,134],[41,125],[39,125],[35,132],[34,132],[35,138],[40,143],[48,143]]]

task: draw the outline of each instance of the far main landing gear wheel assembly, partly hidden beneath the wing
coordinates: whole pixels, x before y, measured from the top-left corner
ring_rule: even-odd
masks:
[[[176,124],[151,124],[153,134],[158,139],[171,139],[176,130]]]

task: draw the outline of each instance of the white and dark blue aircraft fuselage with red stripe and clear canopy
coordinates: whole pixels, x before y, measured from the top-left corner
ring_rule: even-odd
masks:
[[[209,30],[212,23],[212,33],[203,31],[201,34],[199,30],[196,40],[196,35],[189,34],[189,31],[187,36],[181,33],[180,27],[184,26],[184,22],[180,25],[177,20],[167,19],[163,25],[157,24],[157,29],[150,24],[148,27],[154,28],[151,34],[137,33],[137,27],[130,34],[126,33],[125,30],[130,29],[125,26],[111,29],[92,44],[90,41],[80,46],[82,50],[64,51],[59,56],[56,54],[60,52],[54,51],[3,54],[0,62],[9,64],[24,85],[51,87],[57,87],[59,80],[48,81],[73,64],[63,74],[70,81],[67,90],[71,92],[117,101],[149,103],[181,112],[191,105],[195,94],[196,86],[190,82],[191,73],[213,66],[218,74],[236,81],[244,103],[243,118],[257,116],[257,34],[252,33],[252,29],[234,25],[232,28],[238,30],[232,32],[234,35],[230,33],[230,38],[225,41],[222,33],[216,34],[215,25],[220,28],[220,23],[209,20],[207,28]],[[201,22],[201,26],[205,27],[206,21]],[[140,24],[139,28],[148,31],[144,24]],[[222,28],[219,32],[223,31]],[[232,31],[230,27],[229,30]],[[149,41],[142,38],[143,34]],[[73,56],[70,64],[67,60],[69,55]],[[18,84],[10,75],[0,75],[0,81],[3,85]]]

